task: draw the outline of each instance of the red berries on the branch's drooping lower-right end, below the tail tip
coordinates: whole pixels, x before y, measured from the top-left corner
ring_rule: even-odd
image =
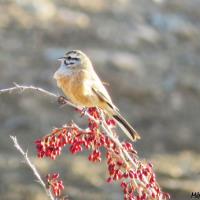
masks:
[[[169,194],[162,192],[156,182],[152,164],[141,162],[131,143],[124,142],[122,146],[131,156],[134,166],[130,160],[122,159],[123,150],[118,146],[107,149],[107,182],[121,181],[124,200],[170,199]]]

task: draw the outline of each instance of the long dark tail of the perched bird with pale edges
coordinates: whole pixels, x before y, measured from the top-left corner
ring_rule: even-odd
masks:
[[[113,115],[114,119],[119,122],[120,127],[124,130],[125,134],[132,140],[136,141],[140,139],[140,135],[137,131],[119,114]],[[121,126],[122,125],[122,126]]]

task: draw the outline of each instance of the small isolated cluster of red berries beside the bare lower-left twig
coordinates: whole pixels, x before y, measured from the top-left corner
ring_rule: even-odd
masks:
[[[50,189],[56,197],[60,196],[61,191],[64,189],[64,186],[62,180],[59,180],[59,174],[47,174],[46,181],[47,188]]]

